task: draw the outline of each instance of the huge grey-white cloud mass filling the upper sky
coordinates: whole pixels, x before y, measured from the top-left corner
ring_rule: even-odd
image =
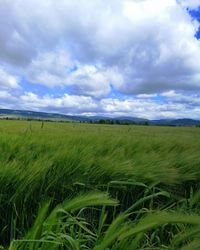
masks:
[[[31,63],[30,81],[51,87],[74,81],[77,93],[99,97],[110,90],[105,72],[113,68],[123,79],[113,86],[123,93],[199,89],[198,23],[182,7],[198,2],[7,0],[1,2],[0,59]],[[54,58],[55,51],[63,55]],[[80,67],[70,77],[63,69],[68,63]]]

